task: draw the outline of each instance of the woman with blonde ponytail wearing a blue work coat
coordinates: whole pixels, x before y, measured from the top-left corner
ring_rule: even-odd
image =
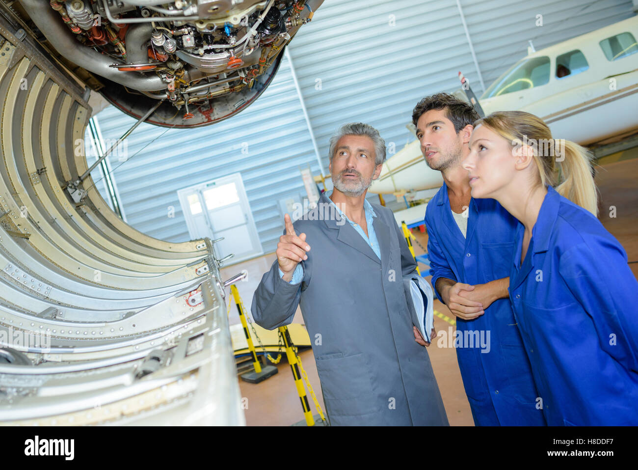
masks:
[[[638,282],[597,215],[591,154],[542,119],[474,123],[471,195],[519,220],[510,299],[548,425],[638,425]]]

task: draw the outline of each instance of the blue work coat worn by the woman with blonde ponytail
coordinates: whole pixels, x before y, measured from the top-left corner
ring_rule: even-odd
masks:
[[[547,423],[638,425],[638,282],[625,250],[551,186],[521,266],[523,235],[520,224],[510,299]]]

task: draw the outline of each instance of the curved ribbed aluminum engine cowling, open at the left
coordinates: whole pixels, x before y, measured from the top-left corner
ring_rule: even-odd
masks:
[[[90,176],[75,204],[83,90],[2,18],[0,45],[0,425],[244,424],[211,242],[136,231]]]

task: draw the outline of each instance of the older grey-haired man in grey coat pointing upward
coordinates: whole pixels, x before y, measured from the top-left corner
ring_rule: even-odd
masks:
[[[366,201],[384,160],[369,125],[346,124],[330,139],[334,190],[294,224],[285,215],[251,310],[274,330],[300,305],[331,425],[448,425],[404,294],[415,261],[392,211]]]

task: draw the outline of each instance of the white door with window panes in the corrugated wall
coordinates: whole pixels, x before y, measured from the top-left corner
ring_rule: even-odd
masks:
[[[177,192],[191,238],[222,238],[214,245],[218,259],[234,254],[224,266],[263,254],[241,174],[234,173]]]

